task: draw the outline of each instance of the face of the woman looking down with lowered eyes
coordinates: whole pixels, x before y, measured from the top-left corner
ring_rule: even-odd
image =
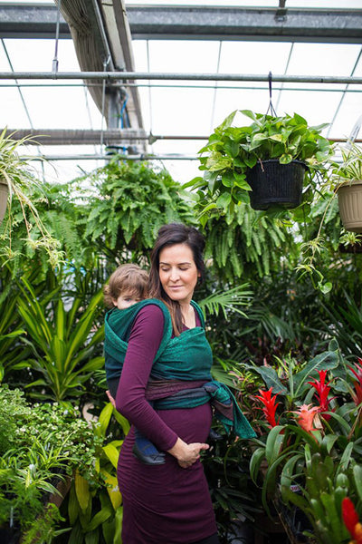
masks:
[[[175,244],[161,249],[158,272],[167,295],[180,304],[189,304],[200,276],[191,248]]]

